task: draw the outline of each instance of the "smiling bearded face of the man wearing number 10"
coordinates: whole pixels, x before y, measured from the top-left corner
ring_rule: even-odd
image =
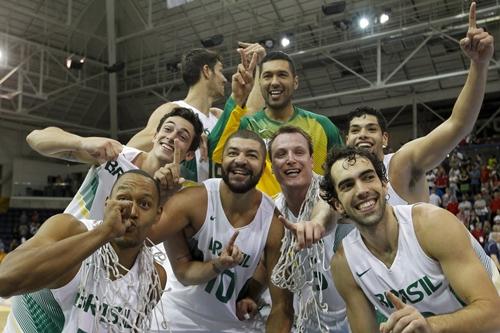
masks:
[[[265,151],[253,139],[230,139],[222,156],[222,179],[234,193],[255,188],[264,170]]]

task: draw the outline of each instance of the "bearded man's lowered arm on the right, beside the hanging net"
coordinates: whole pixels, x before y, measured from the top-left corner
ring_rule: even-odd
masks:
[[[271,313],[267,318],[266,332],[290,332],[293,323],[293,294],[276,287],[271,282],[273,268],[280,257],[281,239],[284,235],[284,228],[278,220],[279,212],[276,212],[271,228],[267,236],[266,248],[264,250],[264,266],[267,273],[267,283],[271,294]]]

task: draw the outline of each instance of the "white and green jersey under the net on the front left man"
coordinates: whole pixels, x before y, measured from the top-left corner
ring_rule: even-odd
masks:
[[[81,220],[81,222],[91,230],[100,223],[94,220]],[[140,256],[138,256],[140,258]],[[137,274],[143,263],[136,260],[130,271],[121,279],[111,282],[116,288],[128,290],[136,283]],[[82,263],[80,270],[75,277],[66,285],[57,289],[42,289],[36,292],[14,296],[12,298],[12,310],[6,322],[4,333],[24,332],[24,333],[85,333],[85,332],[110,332],[129,331],[127,326],[120,323],[118,312],[121,311],[120,304],[124,303],[120,298],[116,298],[115,304],[107,305],[109,317],[112,324],[96,327],[96,319],[93,315],[95,311],[95,301],[99,295],[80,295],[81,283],[85,283],[85,289],[92,290],[95,277],[89,277],[83,281]],[[127,302],[134,304],[133,292],[123,292],[118,294],[128,294]],[[114,322],[116,318],[116,322]]]

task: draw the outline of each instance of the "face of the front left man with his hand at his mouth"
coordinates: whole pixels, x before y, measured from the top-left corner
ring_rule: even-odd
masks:
[[[113,240],[114,244],[120,248],[131,248],[144,242],[151,226],[161,216],[158,196],[155,182],[144,175],[127,173],[116,181],[110,198],[129,200],[132,202],[132,208],[127,217],[130,226],[123,236]]]

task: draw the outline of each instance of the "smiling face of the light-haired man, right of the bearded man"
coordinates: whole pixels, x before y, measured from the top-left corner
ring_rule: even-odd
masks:
[[[304,136],[299,133],[276,136],[270,154],[273,173],[281,188],[309,187],[313,174],[313,158]]]

